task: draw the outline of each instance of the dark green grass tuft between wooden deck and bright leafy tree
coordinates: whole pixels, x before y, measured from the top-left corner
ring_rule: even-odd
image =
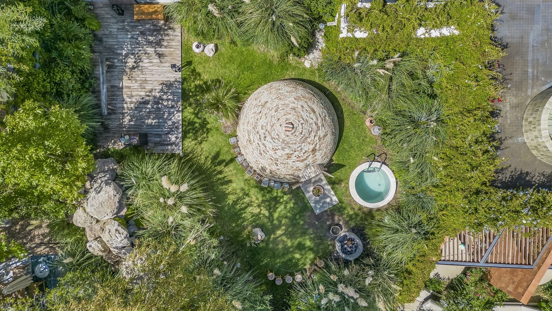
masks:
[[[82,136],[89,145],[94,145],[95,132],[102,127],[102,117],[94,96],[91,93],[73,94],[59,103],[77,114],[78,120],[86,126]]]

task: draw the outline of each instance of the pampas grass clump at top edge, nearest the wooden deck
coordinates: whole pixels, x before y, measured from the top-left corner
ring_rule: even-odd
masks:
[[[179,0],[165,13],[183,29],[205,40],[237,35],[235,18],[241,0]]]

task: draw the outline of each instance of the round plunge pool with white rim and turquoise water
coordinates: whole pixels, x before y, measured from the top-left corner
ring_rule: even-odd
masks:
[[[380,163],[365,162],[354,169],[349,178],[349,192],[354,201],[369,208],[382,207],[389,203],[397,189],[395,175],[390,168]]]

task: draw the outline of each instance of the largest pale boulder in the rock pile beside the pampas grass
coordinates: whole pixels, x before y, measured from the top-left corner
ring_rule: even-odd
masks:
[[[121,198],[123,191],[113,181],[106,180],[94,185],[84,201],[84,209],[98,220],[107,220],[125,208]]]

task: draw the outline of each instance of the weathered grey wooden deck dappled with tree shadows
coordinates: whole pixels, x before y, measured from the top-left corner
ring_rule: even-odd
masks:
[[[182,151],[182,78],[171,70],[181,64],[181,28],[163,20],[134,20],[134,6],[93,3],[102,23],[95,32],[94,57],[100,98],[99,55],[105,56],[108,114],[97,135],[99,147],[123,147],[121,134],[146,133],[154,152]]]

